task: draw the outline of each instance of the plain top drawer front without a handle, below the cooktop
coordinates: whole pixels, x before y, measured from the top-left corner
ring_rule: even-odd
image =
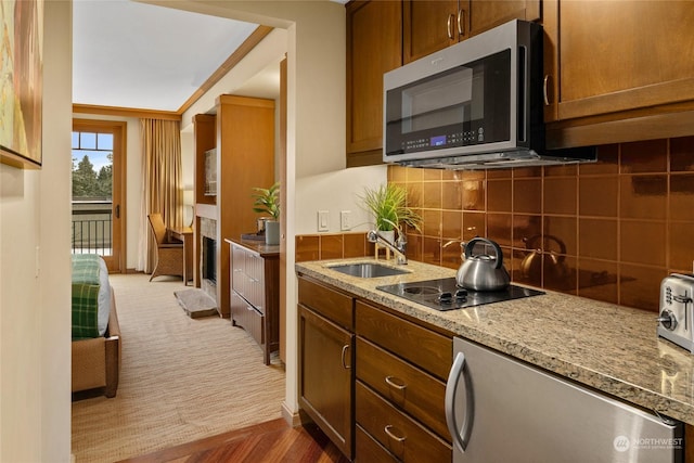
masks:
[[[453,340],[370,306],[356,304],[357,334],[446,380],[453,363]]]

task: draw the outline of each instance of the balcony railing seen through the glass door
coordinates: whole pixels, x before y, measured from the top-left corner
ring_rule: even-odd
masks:
[[[111,256],[112,226],[111,201],[73,201],[73,254]]]

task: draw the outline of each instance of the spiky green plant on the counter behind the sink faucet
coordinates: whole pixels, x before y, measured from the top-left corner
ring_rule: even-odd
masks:
[[[398,235],[403,234],[402,226],[421,231],[422,217],[407,206],[407,190],[395,183],[382,184],[377,189],[364,189],[361,196],[367,209],[374,216],[376,230],[391,243]],[[390,234],[393,237],[388,236]]]

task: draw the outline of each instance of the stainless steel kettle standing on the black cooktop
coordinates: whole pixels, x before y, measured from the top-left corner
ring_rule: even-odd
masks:
[[[473,254],[476,244],[486,244],[494,249],[496,256],[489,254]],[[463,265],[458,269],[455,282],[465,290],[501,291],[511,283],[511,276],[503,267],[501,247],[486,237],[474,237],[464,246]]]

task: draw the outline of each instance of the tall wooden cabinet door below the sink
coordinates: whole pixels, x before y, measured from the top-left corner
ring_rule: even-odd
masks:
[[[354,335],[299,305],[299,406],[351,460]]]

